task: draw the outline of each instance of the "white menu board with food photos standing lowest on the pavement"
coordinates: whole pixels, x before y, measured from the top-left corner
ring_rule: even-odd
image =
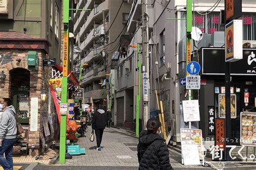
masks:
[[[203,138],[202,138],[202,131],[200,129],[186,129],[186,128],[180,128],[181,133],[181,151],[183,158],[187,158],[187,154],[190,154],[191,159],[190,160],[197,160],[197,157],[199,159],[204,159],[204,152],[203,152]],[[188,149],[187,145],[190,145],[191,148]],[[196,145],[197,152],[191,152]],[[185,146],[185,147],[184,147]],[[189,157],[188,157],[189,158]],[[200,162],[200,161],[199,161]],[[185,165],[199,165],[199,164],[190,164],[191,162],[185,162]]]

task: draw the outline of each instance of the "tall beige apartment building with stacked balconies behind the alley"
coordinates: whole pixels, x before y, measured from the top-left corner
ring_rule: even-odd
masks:
[[[130,4],[119,0],[79,0],[77,9],[90,9],[77,11],[74,15],[76,45],[73,59],[77,68],[80,63],[86,63],[80,81],[85,102],[106,105],[106,73],[116,65],[111,60],[112,54],[119,50]]]

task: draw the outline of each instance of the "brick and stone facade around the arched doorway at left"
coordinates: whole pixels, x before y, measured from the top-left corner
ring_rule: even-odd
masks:
[[[29,130],[29,148],[31,148],[31,144],[35,144],[36,150],[35,152],[31,152],[30,154],[38,154],[40,150],[37,148],[42,148],[42,140],[41,137],[44,136],[44,128],[43,128],[43,117],[47,117],[49,113],[54,119],[55,115],[53,113],[53,104],[49,103],[47,100],[49,95],[49,85],[47,80],[51,78],[51,67],[43,67],[43,60],[48,58],[48,55],[44,50],[31,50],[31,49],[1,49],[0,52],[0,72],[4,71],[6,75],[6,79],[4,81],[0,81],[0,98],[2,97],[11,97],[11,78],[10,78],[10,70],[16,68],[24,68],[28,69],[28,52],[29,51],[37,51],[39,57],[39,68],[38,70],[30,70],[30,96],[38,97],[38,129],[36,132],[31,132]],[[20,62],[18,60],[21,60]],[[46,101],[43,102],[41,100],[41,92],[44,91],[46,94]],[[48,107],[50,105],[50,107]],[[29,104],[30,108],[30,104]],[[46,109],[47,108],[47,109]],[[48,108],[50,110],[48,110]],[[53,123],[54,125],[54,123]],[[44,136],[45,137],[45,136]],[[46,137],[46,142],[51,141],[55,138],[55,135],[50,135],[50,137]]]

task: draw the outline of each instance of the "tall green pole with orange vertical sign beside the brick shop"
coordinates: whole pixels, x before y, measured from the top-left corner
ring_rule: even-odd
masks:
[[[63,77],[62,77],[62,104],[66,104],[66,112],[60,111],[60,142],[59,164],[65,164],[66,154],[66,114],[68,113],[68,62],[69,62],[69,0],[63,1]],[[62,110],[62,107],[60,107]]]

